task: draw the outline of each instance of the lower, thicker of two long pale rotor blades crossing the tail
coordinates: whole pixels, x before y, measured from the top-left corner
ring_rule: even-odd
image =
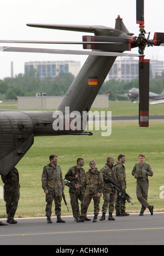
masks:
[[[113,53],[107,51],[80,51],[80,50],[59,50],[59,49],[43,49],[43,48],[21,48],[0,46],[0,51],[20,52],[20,53],[47,53],[47,54],[71,54],[71,55],[92,55],[92,56],[124,56],[124,57],[140,57],[144,55],[129,53]]]

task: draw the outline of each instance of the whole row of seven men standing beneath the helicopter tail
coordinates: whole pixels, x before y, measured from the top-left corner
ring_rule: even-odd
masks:
[[[57,165],[57,155],[50,155],[50,163],[43,168],[42,188],[45,193],[46,217],[47,223],[52,223],[52,202],[55,202],[55,214],[57,223],[65,223],[61,218],[61,201],[65,182],[63,181],[61,167]],[[114,158],[108,157],[106,165],[98,171],[95,160],[89,162],[90,169],[85,173],[84,159],[78,158],[77,165],[72,166],[66,173],[65,179],[69,181],[69,196],[71,199],[72,213],[75,222],[85,222],[91,219],[87,218],[87,209],[93,199],[94,217],[92,222],[97,222],[99,214],[99,203],[103,194],[102,216],[99,220],[106,219],[106,213],[109,212],[108,220],[113,218],[114,208],[116,216],[129,216],[125,209],[125,197],[120,196],[119,190],[109,182],[110,177],[116,184],[126,191],[126,173],[125,173],[125,155],[120,154],[118,161],[114,165]],[[153,215],[153,205],[148,203],[148,176],[153,176],[153,171],[149,164],[145,162],[145,156],[139,155],[139,163],[133,168],[132,175],[137,179],[136,194],[142,207],[139,216],[144,215],[146,208]],[[15,212],[20,197],[19,173],[14,167],[7,176],[1,176],[4,183],[4,201],[6,202],[6,212],[8,215],[7,223],[16,224],[14,220]],[[77,208],[77,201],[81,202],[81,213]],[[79,212],[78,212],[79,211]],[[80,215],[78,215],[80,213]]]

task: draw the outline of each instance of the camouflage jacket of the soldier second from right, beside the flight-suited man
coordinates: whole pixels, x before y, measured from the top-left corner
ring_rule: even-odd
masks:
[[[116,182],[126,189],[126,173],[125,166],[121,162],[116,162],[114,166]]]

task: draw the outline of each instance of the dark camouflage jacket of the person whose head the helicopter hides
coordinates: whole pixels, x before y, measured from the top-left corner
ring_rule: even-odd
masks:
[[[7,176],[1,176],[1,179],[4,183],[4,189],[20,189],[19,172],[15,167],[9,172]]]

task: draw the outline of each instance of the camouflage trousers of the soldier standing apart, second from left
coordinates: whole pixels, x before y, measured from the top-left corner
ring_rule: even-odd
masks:
[[[62,201],[62,196],[54,196],[52,194],[47,194],[45,196],[45,201],[46,201],[46,207],[45,207],[45,216],[46,217],[51,217],[51,209],[52,209],[52,202],[55,202],[55,214],[56,216],[61,215],[61,201]]]

